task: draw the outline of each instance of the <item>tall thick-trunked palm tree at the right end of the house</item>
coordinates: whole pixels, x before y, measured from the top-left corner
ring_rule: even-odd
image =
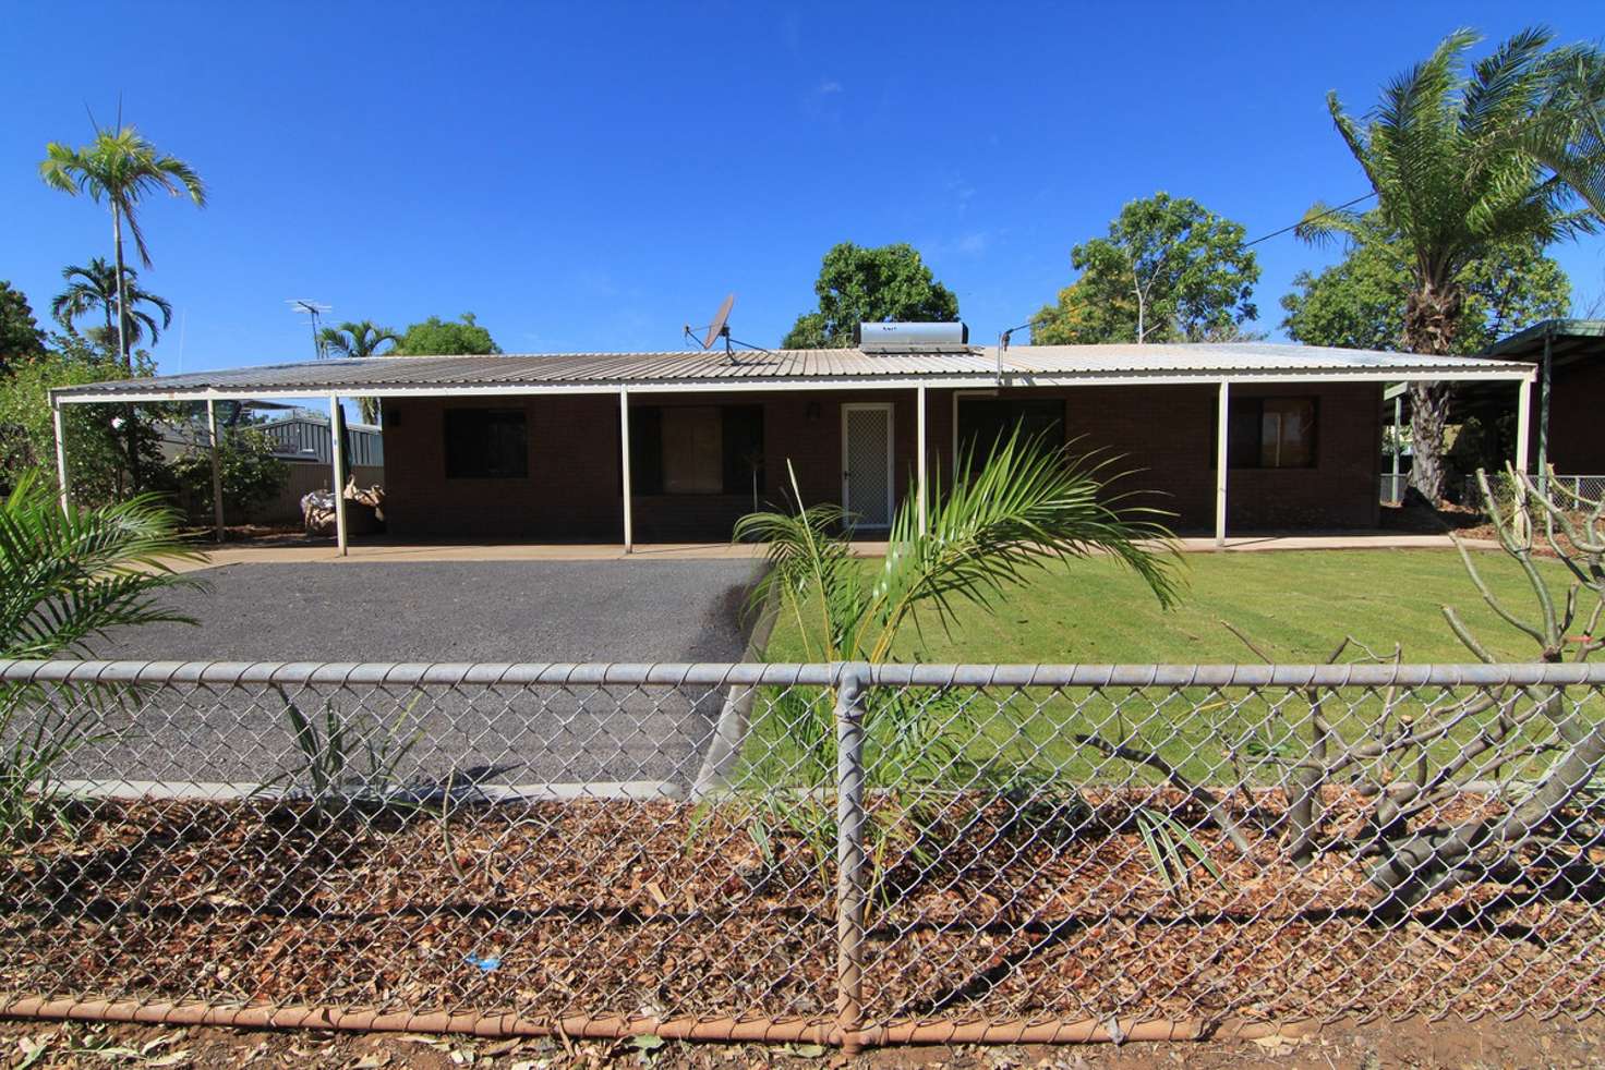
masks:
[[[1446,37],[1432,56],[1382,90],[1364,125],[1327,96],[1332,122],[1377,196],[1371,213],[1316,204],[1300,225],[1306,241],[1396,239],[1411,255],[1404,348],[1453,351],[1465,289],[1461,273],[1505,242],[1549,244],[1592,233],[1605,205],[1605,95],[1591,45],[1550,50],[1528,29],[1477,63],[1472,30]],[[1443,438],[1449,390],[1411,383],[1416,462],[1411,483],[1443,497]]]

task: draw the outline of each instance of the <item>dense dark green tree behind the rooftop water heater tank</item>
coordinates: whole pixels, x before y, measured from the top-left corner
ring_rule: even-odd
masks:
[[[936,281],[913,245],[841,242],[825,253],[814,282],[815,311],[798,316],[780,342],[785,350],[852,345],[860,322],[953,322],[958,297]]]

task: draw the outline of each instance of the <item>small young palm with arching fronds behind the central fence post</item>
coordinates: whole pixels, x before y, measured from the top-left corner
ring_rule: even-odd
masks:
[[[1063,448],[1011,436],[995,444],[979,472],[971,462],[969,454],[960,457],[958,472],[971,475],[945,492],[933,484],[926,525],[916,488],[910,488],[875,569],[852,553],[846,534],[852,518],[841,507],[801,509],[793,472],[799,512],[750,513],[735,526],[738,541],[769,545],[770,569],[753,605],[774,600],[794,621],[809,661],[884,663],[896,653],[899,632],[910,622],[918,629],[921,616],[952,627],[961,603],[990,611],[1030,573],[1095,553],[1135,571],[1160,605],[1175,602],[1170,533],[1152,510],[1106,497],[1104,481],[1117,475],[1107,472],[1109,460],[1072,460]],[[833,818],[823,799],[836,776],[836,698],[835,687],[793,687],[766,699],[766,717],[785,746],[737,784],[746,789],[748,836],[761,853],[769,850],[770,829],[785,828],[802,833],[817,863],[828,858],[835,836],[825,833]],[[947,804],[939,802],[941,781],[963,762],[981,728],[952,696],[875,690],[863,696],[863,732],[876,748],[868,781],[884,789],[884,817],[872,823],[868,852],[880,858],[908,828],[934,831],[941,823],[936,813],[952,802],[952,792]],[[777,784],[804,791],[774,791]],[[933,786],[936,794],[928,791]],[[822,868],[819,876],[828,877]],[[870,900],[881,902],[883,890],[881,877],[872,876]]]

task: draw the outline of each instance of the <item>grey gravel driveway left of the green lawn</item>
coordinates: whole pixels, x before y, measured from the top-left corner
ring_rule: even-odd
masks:
[[[758,561],[234,565],[169,595],[201,626],[127,629],[100,658],[159,661],[738,661]],[[409,784],[689,784],[722,688],[160,690],[69,778],[252,783],[303,765],[286,698],[356,738],[411,743]],[[414,741],[416,740],[416,741]],[[358,756],[364,748],[353,748]]]

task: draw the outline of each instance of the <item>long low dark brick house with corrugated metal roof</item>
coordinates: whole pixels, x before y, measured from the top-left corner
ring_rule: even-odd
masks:
[[[189,372],[55,404],[374,396],[390,534],[729,539],[754,504],[835,501],[865,537],[910,488],[1014,425],[1120,457],[1114,489],[1178,529],[1358,529],[1379,518],[1382,390],[1481,382],[1526,411],[1520,361],[1271,343],[408,356]],[[71,454],[71,443],[67,444]],[[628,459],[628,464],[624,460]]]

